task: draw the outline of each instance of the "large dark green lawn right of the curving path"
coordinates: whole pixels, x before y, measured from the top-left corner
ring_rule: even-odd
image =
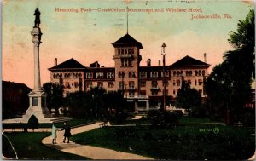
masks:
[[[255,150],[255,138],[249,136],[253,133],[221,125],[106,127],[73,135],[72,140],[157,159],[247,159]]]

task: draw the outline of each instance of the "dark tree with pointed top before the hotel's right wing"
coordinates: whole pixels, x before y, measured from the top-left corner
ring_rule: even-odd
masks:
[[[189,83],[182,81],[182,87],[177,92],[176,106],[188,111],[201,106],[201,93],[196,89],[191,89]]]

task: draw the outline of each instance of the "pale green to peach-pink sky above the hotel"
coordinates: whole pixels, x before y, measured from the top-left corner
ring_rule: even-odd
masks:
[[[37,7],[43,32],[42,84],[50,81],[48,68],[54,66],[55,58],[58,64],[73,58],[84,66],[96,60],[101,66],[114,66],[111,43],[126,34],[127,13],[101,9],[132,9],[128,12],[128,32],[143,44],[141,66],[146,66],[149,58],[152,65],[157,66],[158,60],[162,60],[161,45],[166,43],[166,65],[186,55],[203,61],[206,53],[207,63],[211,64],[209,72],[223,61],[224,52],[233,49],[227,41],[230,31],[236,32],[238,21],[244,20],[249,10],[254,9],[253,0],[3,0],[2,6],[2,79],[25,83],[30,88],[34,84],[30,32]],[[183,12],[167,12],[166,8]],[[56,9],[62,11],[56,12]],[[74,9],[79,12],[73,12]],[[221,19],[191,20],[192,14],[194,17],[219,15]],[[230,18],[224,18],[224,14],[229,14]]]

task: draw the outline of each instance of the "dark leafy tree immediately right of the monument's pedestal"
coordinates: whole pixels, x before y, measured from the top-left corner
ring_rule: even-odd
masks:
[[[55,109],[55,112],[58,112],[58,108],[62,106],[63,102],[63,87],[55,83],[44,83],[43,88],[47,93],[47,107],[49,110]]]

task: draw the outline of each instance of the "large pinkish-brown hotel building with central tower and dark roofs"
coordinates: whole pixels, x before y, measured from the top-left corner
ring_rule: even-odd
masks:
[[[127,33],[112,45],[114,67],[101,67],[97,61],[86,67],[74,59],[58,65],[55,58],[55,66],[49,68],[51,83],[62,84],[64,96],[75,91],[88,91],[90,87],[101,87],[108,92],[120,90],[136,113],[163,106],[164,82],[167,107],[174,106],[182,80],[200,91],[202,97],[206,96],[203,80],[210,66],[206,62],[185,56],[166,65],[165,70],[160,64],[151,66],[150,59],[147,66],[140,66],[142,43]]]

